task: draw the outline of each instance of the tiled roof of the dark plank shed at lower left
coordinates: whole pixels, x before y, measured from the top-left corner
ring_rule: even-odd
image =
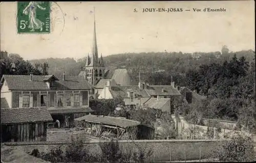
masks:
[[[1,124],[53,121],[46,108],[1,109]]]

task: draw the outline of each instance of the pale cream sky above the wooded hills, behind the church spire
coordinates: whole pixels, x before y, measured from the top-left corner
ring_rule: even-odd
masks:
[[[93,42],[94,7],[99,56],[210,52],[221,51],[223,45],[231,51],[255,50],[254,1],[57,2],[52,3],[50,34],[17,34],[17,4],[1,2],[0,48],[25,60],[85,57]],[[183,12],[142,12],[143,8]],[[204,8],[226,12],[203,12]]]

